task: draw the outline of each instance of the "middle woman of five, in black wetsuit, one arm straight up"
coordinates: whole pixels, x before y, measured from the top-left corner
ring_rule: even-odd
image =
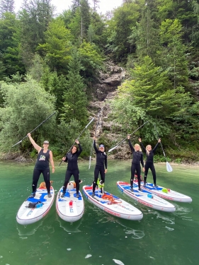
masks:
[[[94,143],[94,149],[96,151],[96,167],[94,170],[94,181],[93,181],[93,194],[92,196],[95,196],[95,189],[98,181],[98,175],[101,175],[101,181],[100,184],[104,184],[105,182],[105,174],[107,172],[107,155],[104,152],[104,145],[101,143],[99,145],[99,148],[96,148],[96,136],[93,137]],[[105,167],[105,168],[104,168]],[[102,192],[102,190],[101,190]]]

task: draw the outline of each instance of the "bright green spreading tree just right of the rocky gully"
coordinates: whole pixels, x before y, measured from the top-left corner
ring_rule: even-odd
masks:
[[[149,129],[156,123],[161,134],[168,134],[166,119],[181,117],[186,112],[191,102],[188,93],[183,88],[171,88],[166,71],[155,66],[149,57],[144,58],[142,65],[135,64],[131,74],[132,80],[118,88],[118,97],[112,102],[115,119],[126,129],[148,121],[147,129],[144,127],[147,139],[154,139]]]

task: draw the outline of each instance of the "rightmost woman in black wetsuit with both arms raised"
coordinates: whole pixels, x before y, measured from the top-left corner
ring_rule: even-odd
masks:
[[[153,175],[153,179],[154,179],[154,187],[157,187],[157,176],[156,176],[156,170],[154,167],[154,152],[157,150],[157,147],[159,145],[159,143],[161,142],[161,139],[158,139],[157,145],[154,147],[154,149],[152,149],[151,145],[146,146],[146,148],[144,148],[144,145],[142,143],[142,139],[139,138],[138,139],[140,141],[140,145],[143,148],[144,153],[146,153],[147,155],[147,160],[146,163],[144,165],[144,185],[147,183],[147,174],[149,169],[152,171],[152,175]]]

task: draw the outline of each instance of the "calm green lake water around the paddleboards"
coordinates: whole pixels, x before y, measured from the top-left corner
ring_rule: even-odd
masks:
[[[55,165],[51,179],[57,194],[65,165]],[[64,222],[57,216],[54,202],[45,218],[24,227],[16,222],[16,213],[31,192],[33,166],[0,163],[0,264],[198,264],[199,167],[172,165],[174,171],[169,173],[166,165],[156,165],[157,184],[193,199],[191,204],[174,203],[174,213],[155,211],[120,194],[116,181],[129,182],[130,161],[108,161],[105,190],[139,208],[144,214],[141,221],[110,216],[84,197],[81,220]],[[93,181],[94,162],[90,170],[88,167],[89,162],[79,163],[83,184]],[[147,180],[152,181],[151,174]]]

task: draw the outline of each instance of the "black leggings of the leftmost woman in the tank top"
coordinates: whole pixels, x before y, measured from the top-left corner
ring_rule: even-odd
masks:
[[[40,175],[43,175],[43,179],[45,181],[45,186],[47,189],[47,193],[50,193],[50,168],[46,168],[45,170],[37,170],[36,168],[33,171],[33,192],[36,192],[37,186],[38,186],[38,180],[40,178]]]

